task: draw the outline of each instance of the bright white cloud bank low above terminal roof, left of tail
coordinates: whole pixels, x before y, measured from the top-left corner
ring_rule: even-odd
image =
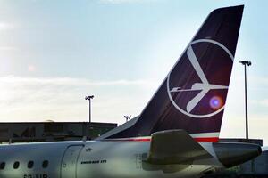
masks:
[[[0,85],[1,122],[86,121],[88,102],[84,97],[94,94],[93,119],[122,123],[123,115],[138,115],[155,91],[154,81],[123,79],[9,76],[0,77]]]

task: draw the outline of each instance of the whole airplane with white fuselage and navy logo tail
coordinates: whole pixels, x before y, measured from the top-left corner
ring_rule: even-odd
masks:
[[[93,141],[1,145],[0,177],[201,177],[260,155],[219,142],[243,9],[208,15],[138,117]]]

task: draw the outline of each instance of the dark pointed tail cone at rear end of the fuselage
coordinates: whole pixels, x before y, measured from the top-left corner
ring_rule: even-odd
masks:
[[[213,145],[218,159],[226,168],[238,166],[262,153],[262,148],[252,143],[215,142]]]

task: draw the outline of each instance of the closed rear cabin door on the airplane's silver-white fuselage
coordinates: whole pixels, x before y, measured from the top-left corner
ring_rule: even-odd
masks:
[[[62,178],[76,178],[77,161],[83,147],[83,145],[73,145],[65,150],[61,166]]]

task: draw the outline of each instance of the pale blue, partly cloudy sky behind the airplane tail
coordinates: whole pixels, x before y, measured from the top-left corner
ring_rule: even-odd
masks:
[[[265,0],[0,0],[0,122],[125,122],[140,114],[209,12],[245,4],[221,137],[268,145]]]

